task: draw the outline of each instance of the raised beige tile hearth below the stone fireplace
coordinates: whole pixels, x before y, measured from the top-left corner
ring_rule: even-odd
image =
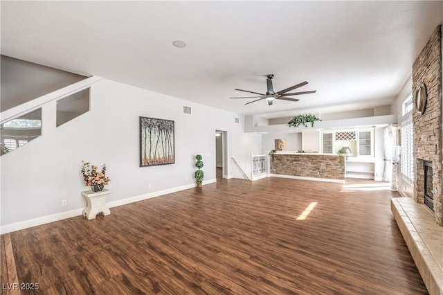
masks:
[[[443,295],[443,226],[408,197],[392,198],[391,210],[429,294]]]

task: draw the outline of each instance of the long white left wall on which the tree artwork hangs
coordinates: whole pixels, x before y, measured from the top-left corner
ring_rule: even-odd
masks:
[[[192,115],[183,114],[183,105]],[[215,180],[215,130],[227,132],[228,175],[242,178],[235,157],[251,173],[260,134],[245,134],[242,116],[160,93],[102,80],[91,87],[91,110],[55,127],[56,101],[43,107],[42,136],[1,157],[1,226],[44,219],[86,206],[82,160],[107,164],[107,202],[195,183],[195,154],[202,154],[204,181]],[[139,116],[175,122],[175,163],[139,167]],[[234,118],[239,117],[240,123]],[[62,207],[66,199],[67,206]],[[78,212],[78,211],[75,211]],[[111,211],[112,212],[112,211]],[[38,223],[38,222],[37,222]]]

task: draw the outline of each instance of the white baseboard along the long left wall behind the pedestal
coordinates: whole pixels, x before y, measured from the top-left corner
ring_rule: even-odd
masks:
[[[203,181],[203,185],[213,184],[215,182],[217,182],[217,179],[209,179],[207,181]],[[170,193],[176,193],[180,190],[188,190],[189,188],[195,188],[195,186],[196,186],[195,184],[186,184],[185,186],[177,186],[176,188],[168,188],[166,190],[159,190],[159,191],[156,191],[153,193],[138,195],[135,197],[128,197],[126,199],[118,199],[116,201],[109,202],[106,204],[109,208],[114,208],[114,207],[118,207],[118,206],[122,206],[122,205],[131,204],[134,202],[143,201],[145,199],[150,199],[153,197],[159,197],[161,195],[168,195]],[[1,234],[10,233],[12,231],[19,231],[21,229],[28,229],[33,226],[38,226],[38,225],[47,224],[50,222],[56,222],[59,220],[66,220],[67,218],[71,218],[71,217],[75,217],[75,216],[80,216],[80,215],[82,215],[83,209],[84,208],[77,208],[77,209],[73,209],[71,211],[65,211],[65,212],[60,212],[60,213],[55,213],[55,214],[46,215],[46,216],[42,216],[42,217],[33,218],[32,220],[24,220],[24,221],[15,222],[12,224],[6,224],[3,226],[0,226],[0,233]]]

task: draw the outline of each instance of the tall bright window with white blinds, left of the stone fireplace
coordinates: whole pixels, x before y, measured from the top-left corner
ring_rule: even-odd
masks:
[[[411,183],[414,180],[413,120],[401,124],[401,174]]]

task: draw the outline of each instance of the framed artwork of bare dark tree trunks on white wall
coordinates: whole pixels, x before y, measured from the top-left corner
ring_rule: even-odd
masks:
[[[140,117],[140,167],[173,164],[174,121]]]

